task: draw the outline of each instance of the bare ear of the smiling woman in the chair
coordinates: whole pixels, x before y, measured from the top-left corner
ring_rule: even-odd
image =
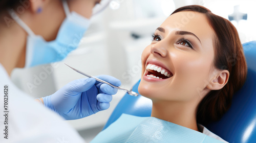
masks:
[[[210,90],[219,90],[227,84],[228,78],[229,78],[229,71],[228,70],[221,70],[209,82],[209,84],[206,86],[206,88],[208,88]]]

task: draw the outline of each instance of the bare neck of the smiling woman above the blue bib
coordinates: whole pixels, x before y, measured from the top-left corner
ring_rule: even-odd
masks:
[[[198,131],[197,104],[173,101],[153,101],[151,116]]]

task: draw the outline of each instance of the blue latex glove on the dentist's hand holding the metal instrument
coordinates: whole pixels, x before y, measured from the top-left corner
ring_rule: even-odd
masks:
[[[121,85],[118,79],[111,76],[101,75],[97,78],[115,86]],[[98,82],[94,78],[84,78],[68,83],[43,100],[46,107],[66,120],[75,120],[108,109],[112,95],[116,93],[116,88]]]

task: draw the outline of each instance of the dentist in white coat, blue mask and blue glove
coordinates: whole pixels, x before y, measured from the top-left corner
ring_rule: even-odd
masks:
[[[0,1],[0,142],[84,142],[70,125],[108,109],[117,89],[78,79],[41,99],[31,99],[10,80],[14,68],[63,60],[75,50],[100,0]],[[98,76],[113,85],[111,76]],[[43,104],[44,106],[40,105]],[[54,113],[55,112],[55,113]],[[62,118],[57,115],[59,114]]]

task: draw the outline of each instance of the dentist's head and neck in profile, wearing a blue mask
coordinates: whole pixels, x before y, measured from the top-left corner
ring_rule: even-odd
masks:
[[[10,73],[14,67],[64,59],[78,46],[98,3],[100,0],[1,0],[1,64]]]

